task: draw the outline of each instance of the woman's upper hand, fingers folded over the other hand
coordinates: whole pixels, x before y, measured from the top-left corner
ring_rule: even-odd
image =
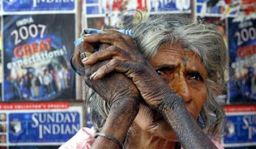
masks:
[[[133,79],[146,103],[151,108],[159,110],[159,105],[166,99],[165,93],[172,91],[139,52],[130,36],[111,29],[100,34],[85,35],[84,41],[89,44],[102,42],[111,45],[105,50],[100,50],[82,59],[85,66],[93,66],[98,61],[111,59],[94,72],[90,79],[99,80],[108,77],[107,74],[113,71],[123,73]]]

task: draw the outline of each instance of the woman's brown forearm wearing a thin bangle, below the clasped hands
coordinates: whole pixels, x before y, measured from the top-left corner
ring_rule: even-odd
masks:
[[[111,135],[123,143],[138,110],[138,99],[134,97],[124,97],[115,101],[101,133]],[[97,137],[92,148],[119,148],[119,146],[109,139]]]

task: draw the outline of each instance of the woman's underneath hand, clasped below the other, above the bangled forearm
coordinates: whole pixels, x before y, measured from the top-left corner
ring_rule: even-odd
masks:
[[[102,51],[109,46],[110,45],[108,44],[102,44],[99,51]],[[93,46],[86,42],[83,42],[77,46],[72,59],[73,64],[82,74],[82,78],[84,79],[85,83],[90,88],[93,88],[93,90],[96,91],[104,100],[108,101],[110,105],[123,97],[139,98],[138,89],[132,80],[121,74],[106,76],[101,80],[90,79],[92,73],[98,70],[100,67],[106,65],[109,60],[101,61],[93,66],[84,66],[80,58],[80,53],[82,52],[93,52]],[[126,82],[125,84],[123,84],[124,81]]]

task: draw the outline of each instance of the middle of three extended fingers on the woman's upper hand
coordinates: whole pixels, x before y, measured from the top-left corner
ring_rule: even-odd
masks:
[[[82,59],[82,63],[84,65],[93,65],[94,63],[97,63],[98,61],[109,59],[109,58],[115,58],[122,61],[126,61],[130,59],[130,54],[126,52],[125,50],[117,48],[117,46],[109,46],[105,50],[99,50],[98,52],[94,52],[89,57],[85,57]]]

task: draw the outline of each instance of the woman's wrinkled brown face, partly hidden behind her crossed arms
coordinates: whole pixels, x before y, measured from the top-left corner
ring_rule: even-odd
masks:
[[[188,112],[196,121],[207,99],[207,71],[201,58],[180,46],[167,44],[160,48],[150,63],[168,86],[183,97]],[[177,141],[174,131],[161,114],[147,107],[146,104],[140,105],[135,124],[156,137]],[[182,124],[180,126],[182,127]]]

